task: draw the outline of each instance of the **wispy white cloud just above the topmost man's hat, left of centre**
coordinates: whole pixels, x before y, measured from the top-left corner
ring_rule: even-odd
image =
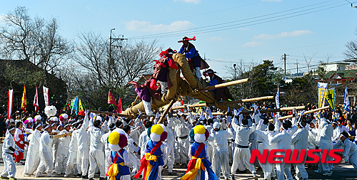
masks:
[[[194,26],[190,21],[174,21],[169,25],[152,25],[149,21],[129,21],[125,23],[128,31],[144,31],[150,33],[162,33],[169,31],[179,31]]]

